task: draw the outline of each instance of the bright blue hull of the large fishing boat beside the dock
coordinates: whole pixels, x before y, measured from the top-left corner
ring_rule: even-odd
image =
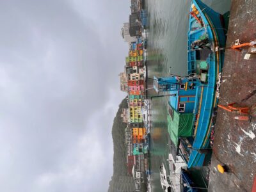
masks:
[[[205,152],[207,152],[207,150],[202,149],[209,148],[212,115],[218,104],[219,93],[216,92],[216,84],[221,76],[224,58],[224,52],[220,51],[220,47],[224,47],[226,41],[225,33],[221,25],[221,15],[214,12],[214,10],[206,6],[200,0],[194,0],[192,4],[194,4],[198,12],[200,12],[198,17],[202,19],[203,27],[200,28],[200,26],[198,26],[198,29],[193,28],[196,26],[195,18],[190,17],[188,49],[190,49],[190,45],[193,41],[197,40],[202,35],[207,35],[209,42],[211,42],[211,53],[206,59],[208,63],[207,83],[202,83],[201,86],[198,86],[198,90],[196,91],[196,98],[198,100],[195,104],[194,116],[195,140],[189,156],[188,168],[204,166]],[[196,53],[196,51],[188,51],[188,73],[195,72],[196,70]]]

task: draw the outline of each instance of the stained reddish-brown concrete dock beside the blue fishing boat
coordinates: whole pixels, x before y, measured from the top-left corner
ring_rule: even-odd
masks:
[[[233,0],[230,10],[226,47],[236,39],[256,39],[256,1]],[[218,108],[212,148],[209,191],[252,191],[256,176],[256,54],[244,59],[248,52],[227,49],[221,79],[219,104],[236,102],[251,108],[250,121],[234,119],[235,113]],[[228,172],[220,173],[217,164],[225,164]],[[255,189],[256,191],[256,189]]]

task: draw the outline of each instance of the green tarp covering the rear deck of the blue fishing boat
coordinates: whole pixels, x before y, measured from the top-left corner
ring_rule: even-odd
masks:
[[[192,136],[193,113],[179,113],[175,109],[173,109],[172,116],[167,116],[168,133],[171,140],[177,147],[180,137]]]

